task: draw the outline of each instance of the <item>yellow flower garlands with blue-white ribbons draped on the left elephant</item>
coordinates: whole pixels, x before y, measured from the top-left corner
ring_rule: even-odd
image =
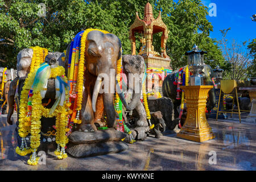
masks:
[[[35,50],[34,53],[36,53]],[[34,57],[33,53],[33,57]],[[39,51],[37,52],[39,53]],[[32,70],[36,68],[40,59],[44,59],[44,55],[35,55],[36,59],[32,59]],[[22,144],[20,147],[16,148],[16,153],[19,155],[27,155],[32,152],[30,159],[28,159],[28,164],[36,165],[38,164],[39,158],[36,157],[36,150],[40,146],[40,129],[41,129],[41,117],[56,117],[56,143],[58,144],[57,158],[64,159],[67,158],[65,154],[65,144],[68,142],[68,138],[65,135],[66,126],[68,123],[68,84],[67,78],[64,76],[64,68],[56,67],[51,68],[48,64],[44,63],[40,65],[39,68],[35,69],[33,73],[30,72],[25,80],[23,86],[22,94],[20,96],[20,117],[19,117],[19,136],[22,137]],[[41,90],[43,86],[47,83],[49,77],[54,77],[60,82],[61,93],[57,98],[55,105],[58,105],[56,109],[51,113],[51,109],[46,109],[42,105]],[[64,88],[64,90],[63,90]],[[29,90],[29,91],[28,91]],[[64,97],[63,97],[64,96]],[[27,107],[26,107],[27,106]],[[54,108],[53,108],[54,109]],[[24,139],[28,133],[31,134],[30,137],[30,147],[28,148],[26,140]],[[61,151],[59,150],[61,146]]]

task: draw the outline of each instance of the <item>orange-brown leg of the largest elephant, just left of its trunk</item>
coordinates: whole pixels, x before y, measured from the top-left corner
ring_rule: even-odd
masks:
[[[98,123],[101,127],[105,126],[105,122],[102,121],[102,115],[104,113],[103,94],[98,94],[96,102],[96,112],[94,113],[94,123]]]

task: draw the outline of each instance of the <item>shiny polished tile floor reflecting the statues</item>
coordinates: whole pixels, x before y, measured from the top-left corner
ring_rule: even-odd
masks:
[[[50,152],[46,164],[29,166],[29,156],[15,153],[15,125],[7,125],[6,115],[0,115],[0,170],[256,170],[256,124],[246,123],[245,117],[241,123],[236,115],[233,119],[209,119],[216,138],[203,143],[167,131],[160,139],[150,136],[129,144],[129,149],[119,154],[59,160]]]

